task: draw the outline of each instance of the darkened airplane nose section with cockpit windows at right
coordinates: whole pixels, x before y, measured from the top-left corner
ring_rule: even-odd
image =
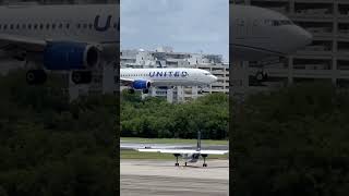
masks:
[[[229,32],[231,62],[291,54],[312,41],[312,35],[287,16],[251,5],[230,4]]]

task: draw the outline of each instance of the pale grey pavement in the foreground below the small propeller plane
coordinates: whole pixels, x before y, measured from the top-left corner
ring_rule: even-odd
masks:
[[[208,160],[189,167],[174,167],[173,161],[121,160],[122,196],[226,196],[229,195],[228,160]]]

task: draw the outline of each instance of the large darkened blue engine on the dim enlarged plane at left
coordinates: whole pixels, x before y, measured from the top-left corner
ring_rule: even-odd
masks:
[[[98,48],[84,42],[49,42],[44,51],[44,65],[48,70],[84,70],[98,63]]]

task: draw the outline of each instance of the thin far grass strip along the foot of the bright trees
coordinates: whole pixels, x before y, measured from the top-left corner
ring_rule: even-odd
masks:
[[[179,138],[141,138],[141,137],[121,137],[120,140],[128,143],[146,143],[146,144],[192,144],[196,145],[196,139]],[[228,140],[202,139],[203,145],[228,145]]]

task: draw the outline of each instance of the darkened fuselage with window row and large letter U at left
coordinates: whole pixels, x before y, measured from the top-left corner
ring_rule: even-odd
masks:
[[[28,40],[75,41],[104,46],[113,57],[119,47],[118,4],[2,5],[0,35]],[[0,45],[0,49],[5,47]]]

